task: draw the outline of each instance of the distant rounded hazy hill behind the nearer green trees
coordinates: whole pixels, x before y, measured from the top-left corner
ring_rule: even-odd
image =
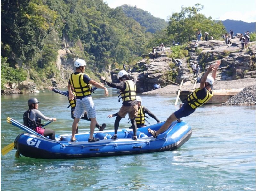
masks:
[[[168,23],[164,19],[156,18],[148,11],[137,8],[136,6],[122,5],[125,15],[136,20],[140,25],[146,27],[146,32],[155,33],[167,27]]]

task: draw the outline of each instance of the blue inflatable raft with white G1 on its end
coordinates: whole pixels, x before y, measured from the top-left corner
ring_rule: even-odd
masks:
[[[164,122],[154,124],[153,130],[159,129]],[[111,139],[113,130],[95,131],[94,136],[100,141],[88,142],[89,133],[76,134],[76,142],[70,142],[71,135],[65,134],[62,141],[53,141],[35,134],[23,133],[14,141],[15,148],[23,156],[44,159],[71,159],[87,157],[105,157],[150,152],[162,152],[180,148],[192,134],[192,129],[184,121],[173,122],[157,138],[148,133],[148,127],[139,128],[138,139],[132,139],[131,129],[118,130],[118,139]],[[58,136],[60,137],[60,136]]]

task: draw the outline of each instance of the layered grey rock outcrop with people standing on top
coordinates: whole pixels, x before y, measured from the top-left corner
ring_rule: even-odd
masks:
[[[180,84],[194,83],[196,80],[192,72],[195,63],[201,68],[199,76],[207,70],[208,66],[221,60],[216,80],[236,80],[240,78],[255,78],[255,42],[248,44],[248,49],[241,51],[239,38],[232,39],[232,44],[226,45],[225,41],[209,40],[199,41],[198,51],[195,51],[194,41],[188,44],[189,57],[187,59],[171,59],[167,57],[172,51],[157,51],[156,59],[152,59],[152,53],[144,54],[143,59],[136,63],[131,79],[137,79],[137,92],[146,92],[153,89],[154,84],[165,86],[168,83],[164,78],[172,70],[176,72],[175,82]],[[113,82],[118,82],[116,74],[118,70],[111,71]]]

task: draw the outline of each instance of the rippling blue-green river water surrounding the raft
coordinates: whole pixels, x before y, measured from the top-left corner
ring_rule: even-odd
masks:
[[[121,107],[116,90],[109,97],[97,89],[92,95],[99,124],[112,129],[107,118]],[[142,104],[161,121],[178,106],[174,95],[140,95]],[[1,96],[1,149],[23,133],[6,122],[7,116],[22,122],[27,101],[36,97],[39,110],[57,122],[47,127],[56,134],[71,133],[72,118],[66,96],[52,91]],[[180,101],[178,103],[181,103]],[[255,190],[255,105],[205,105],[183,118],[193,130],[178,150],[71,160],[15,158],[15,149],[1,155],[1,190]],[[128,127],[128,116],[120,128]],[[148,119],[150,124],[155,120]],[[80,120],[79,132],[89,131]]]

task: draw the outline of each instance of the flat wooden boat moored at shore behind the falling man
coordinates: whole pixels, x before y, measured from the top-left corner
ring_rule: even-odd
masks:
[[[219,89],[219,90],[213,90],[213,97],[207,102],[209,103],[225,103],[228,101],[229,98],[239,93],[243,88],[240,89]],[[180,100],[184,103],[187,99],[188,94],[191,91],[181,91],[180,92]],[[178,91],[177,91],[178,93]]]

